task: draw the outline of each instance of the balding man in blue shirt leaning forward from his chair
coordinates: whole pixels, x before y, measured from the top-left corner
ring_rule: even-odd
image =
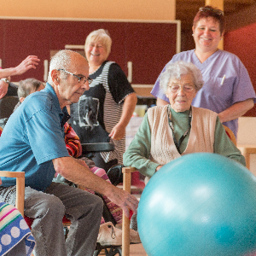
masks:
[[[55,172],[122,207],[136,211],[137,199],[90,172],[84,162],[69,156],[63,125],[67,105],[89,90],[89,67],[82,55],[61,50],[49,65],[44,90],[27,96],[13,113],[0,137],[0,170],[26,172],[25,214],[35,218],[32,234],[36,255],[92,255],[102,217],[102,200],[81,189],[53,183]],[[4,201],[14,201],[14,181],[3,178]],[[64,214],[72,225],[65,244]]]

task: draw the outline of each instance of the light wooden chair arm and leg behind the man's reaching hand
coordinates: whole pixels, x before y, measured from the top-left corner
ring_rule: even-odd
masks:
[[[135,167],[123,167],[123,189],[131,193],[131,172],[136,172]],[[125,217],[125,212],[123,211],[123,223],[122,223],[122,255],[130,255],[130,219]]]

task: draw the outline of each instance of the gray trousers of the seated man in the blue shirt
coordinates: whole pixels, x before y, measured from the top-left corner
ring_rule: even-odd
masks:
[[[0,189],[3,201],[14,205],[15,188]],[[44,193],[25,188],[25,215],[34,218],[36,256],[92,256],[102,218],[102,199],[87,191],[51,183]],[[65,242],[62,218],[72,222]]]

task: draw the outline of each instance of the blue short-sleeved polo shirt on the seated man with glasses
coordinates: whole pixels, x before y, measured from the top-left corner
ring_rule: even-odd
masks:
[[[52,160],[69,156],[63,128],[67,116],[51,85],[27,96],[0,137],[0,170],[25,172],[26,186],[44,191],[55,176]],[[15,185],[15,178],[2,181],[4,187]]]

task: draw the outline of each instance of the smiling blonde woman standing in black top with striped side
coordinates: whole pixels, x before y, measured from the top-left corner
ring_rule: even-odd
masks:
[[[90,90],[84,92],[78,103],[71,106],[71,124],[81,143],[107,143],[109,138],[115,150],[96,154],[96,166],[108,170],[123,162],[125,127],[128,125],[137,96],[125,73],[113,61],[107,61],[112,39],[107,31],[90,32],[85,40],[85,56],[89,63]]]

